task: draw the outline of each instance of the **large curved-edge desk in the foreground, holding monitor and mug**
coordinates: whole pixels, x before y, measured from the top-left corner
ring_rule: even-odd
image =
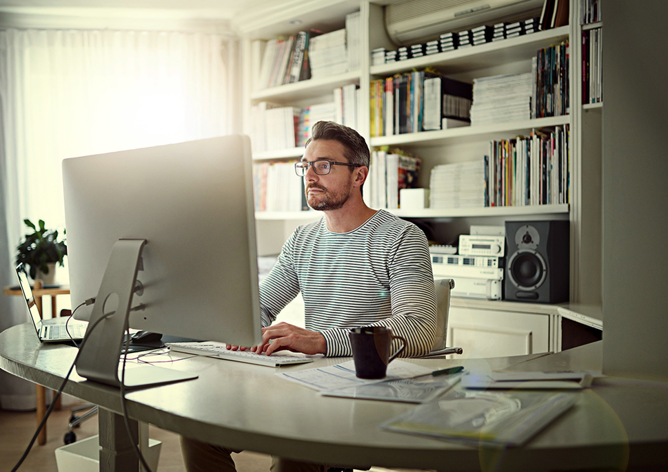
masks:
[[[27,325],[0,334],[0,367],[34,382],[57,387],[70,367],[73,347],[40,345]],[[433,368],[469,369],[600,367],[601,343],[550,356],[414,361]],[[176,357],[175,357],[176,358]],[[330,365],[343,358],[281,367],[282,372]],[[161,364],[165,366],[165,364]],[[352,466],[398,466],[438,471],[540,471],[668,465],[668,384],[606,378],[577,393],[578,403],[525,447],[494,449],[390,433],[378,428],[412,405],[318,396],[287,382],[276,369],[211,358],[186,358],[174,369],[199,378],[128,394],[132,418],[199,440],[307,461]],[[70,381],[65,392],[101,405],[101,440],[118,444],[122,420],[119,391]],[[110,439],[111,438],[111,439]],[[113,454],[116,455],[113,455]],[[138,469],[128,449],[103,450],[103,471]],[[123,456],[125,454],[125,456]],[[132,469],[121,469],[132,462]]]

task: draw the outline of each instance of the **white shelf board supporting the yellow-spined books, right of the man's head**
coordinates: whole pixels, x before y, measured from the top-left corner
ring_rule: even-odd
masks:
[[[570,116],[551,116],[515,122],[503,122],[498,125],[464,126],[436,131],[421,131],[420,133],[393,134],[392,136],[378,136],[371,138],[372,146],[394,146],[398,144],[421,144],[437,146],[447,142],[463,142],[479,140],[481,137],[495,138],[507,133],[529,133],[535,128],[545,128],[570,123]]]

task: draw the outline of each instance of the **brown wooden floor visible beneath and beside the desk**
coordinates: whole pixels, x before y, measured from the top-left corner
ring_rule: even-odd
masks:
[[[54,411],[48,420],[47,442],[38,446],[37,442],[28,454],[28,458],[21,465],[20,471],[30,472],[57,472],[54,451],[63,446],[63,436],[68,431],[70,411],[63,408]],[[10,470],[21,458],[26,450],[30,438],[34,434],[37,420],[34,411],[15,412],[0,410],[0,461],[3,469]],[[97,434],[97,418],[85,421],[81,427],[74,430],[77,440],[89,438]],[[179,436],[171,431],[150,427],[150,438],[162,441],[160,460],[157,471],[153,472],[183,472],[183,458],[179,446]],[[234,454],[236,468],[240,472],[268,472],[271,458],[268,455],[244,452]],[[65,472],[65,471],[61,471]],[[69,471],[68,471],[69,472]]]

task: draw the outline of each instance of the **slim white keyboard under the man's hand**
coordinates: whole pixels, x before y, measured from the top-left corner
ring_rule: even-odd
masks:
[[[227,361],[245,362],[249,364],[267,365],[268,367],[280,367],[281,365],[304,364],[313,362],[312,358],[294,356],[290,354],[256,354],[250,351],[232,351],[222,343],[167,343],[171,351],[185,352],[186,354],[201,354],[204,356],[217,357]]]

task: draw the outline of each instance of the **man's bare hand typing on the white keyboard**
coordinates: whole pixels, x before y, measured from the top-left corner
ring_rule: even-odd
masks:
[[[303,352],[303,354],[325,354],[327,342],[325,337],[316,331],[281,322],[262,328],[262,343],[252,348],[253,352],[265,352],[267,356],[272,352],[283,350]]]

